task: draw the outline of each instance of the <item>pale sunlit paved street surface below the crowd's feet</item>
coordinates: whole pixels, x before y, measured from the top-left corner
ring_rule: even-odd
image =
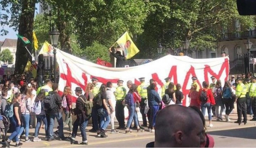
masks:
[[[216,122],[213,120],[213,127],[207,127],[207,131],[214,137],[215,147],[256,147],[256,122],[248,121],[248,124],[234,124],[237,115],[231,115],[231,122]],[[251,117],[248,117],[250,119]],[[117,123],[116,123],[117,124]],[[208,124],[208,122],[207,122]],[[110,128],[110,126],[108,127]],[[88,130],[91,129],[91,125],[87,127],[87,139],[88,146],[83,147],[145,147],[148,142],[154,141],[154,134],[148,131],[142,133],[132,132],[125,134],[124,130],[121,130],[118,134],[110,134],[108,129],[108,137],[98,138],[96,133],[91,133]],[[30,129],[30,135],[35,129]],[[39,137],[43,137],[43,130],[40,130]],[[65,135],[68,136],[67,128],[65,128]],[[32,136],[31,136],[32,138]],[[23,140],[23,139],[22,139]],[[78,143],[81,142],[81,136],[77,136]],[[13,144],[13,143],[12,143]],[[23,142],[22,147],[81,147],[80,145],[73,144],[66,141],[40,141],[40,142]]]

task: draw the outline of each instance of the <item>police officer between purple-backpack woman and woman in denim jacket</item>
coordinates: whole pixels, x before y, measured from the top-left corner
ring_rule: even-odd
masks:
[[[144,127],[147,127],[147,118],[146,118],[146,114],[144,114],[145,112],[145,106],[146,103],[145,101],[147,100],[147,87],[148,85],[145,84],[145,78],[139,78],[140,80],[140,85],[138,86],[137,90],[139,92],[139,95],[141,96],[141,102],[140,102],[140,113],[142,115],[142,121],[143,121],[143,125]],[[148,117],[148,121],[150,117]]]

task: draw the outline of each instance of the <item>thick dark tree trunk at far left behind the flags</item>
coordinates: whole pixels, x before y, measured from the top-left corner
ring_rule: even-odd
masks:
[[[22,12],[19,20],[19,34],[28,38],[32,43],[32,32],[34,23],[36,0],[22,0]],[[27,44],[28,50],[32,51],[32,45]],[[15,73],[23,73],[25,66],[31,61],[32,57],[29,52],[25,49],[23,41],[18,39],[17,51],[16,51],[16,62],[15,62]]]

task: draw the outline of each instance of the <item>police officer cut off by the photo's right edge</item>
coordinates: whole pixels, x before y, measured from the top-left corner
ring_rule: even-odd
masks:
[[[256,121],[256,76],[251,76],[251,82],[249,95],[251,97],[251,106],[254,114],[250,121]]]

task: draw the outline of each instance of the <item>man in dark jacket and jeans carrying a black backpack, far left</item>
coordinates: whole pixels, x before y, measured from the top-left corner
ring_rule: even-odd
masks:
[[[47,110],[47,112],[50,116],[50,123],[49,123],[49,127],[48,127],[50,138],[48,139],[48,141],[55,140],[53,137],[53,126],[54,126],[55,118],[57,119],[57,121],[59,123],[59,134],[57,136],[59,136],[61,140],[68,141],[69,139],[67,137],[64,137],[64,134],[63,134],[63,119],[62,119],[62,114],[60,112],[62,99],[61,99],[61,96],[58,94],[58,84],[57,83],[53,84],[53,91],[50,91],[49,95],[53,96],[51,99],[54,99],[54,102],[56,103],[56,105],[54,106],[53,109]]]

